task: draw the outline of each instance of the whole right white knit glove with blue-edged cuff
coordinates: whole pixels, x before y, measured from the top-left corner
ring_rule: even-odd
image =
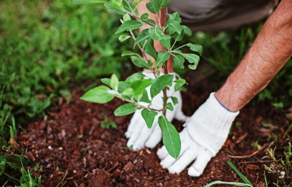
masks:
[[[195,160],[188,169],[188,174],[200,176],[207,163],[223,146],[239,111],[228,111],[214,94],[211,93],[207,101],[185,123],[186,127],[180,132],[180,156],[176,160],[168,154],[165,146],[158,149],[160,164],[163,168],[168,168],[170,173],[180,173]]]

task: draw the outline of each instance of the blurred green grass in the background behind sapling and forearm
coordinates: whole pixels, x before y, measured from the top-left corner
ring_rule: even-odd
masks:
[[[121,57],[121,52],[131,50],[133,43],[121,44],[119,35],[114,35],[120,25],[119,18],[101,5],[74,5],[70,0],[0,1],[2,149],[7,149],[16,129],[23,129],[30,120],[44,116],[59,98],[70,101],[70,90],[76,85],[90,80],[88,89],[96,86],[102,76],[116,73],[121,77],[125,69],[131,70],[129,59]],[[201,63],[211,65],[212,77],[221,85],[262,25],[216,35],[195,32],[184,42],[204,47]],[[252,102],[291,107],[291,66],[290,60]]]

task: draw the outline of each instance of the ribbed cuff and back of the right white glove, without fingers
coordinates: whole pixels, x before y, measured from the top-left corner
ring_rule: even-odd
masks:
[[[211,93],[207,101],[192,115],[187,130],[192,139],[208,148],[215,156],[225,142],[232,122],[239,111],[231,112]],[[218,143],[222,144],[221,146]]]

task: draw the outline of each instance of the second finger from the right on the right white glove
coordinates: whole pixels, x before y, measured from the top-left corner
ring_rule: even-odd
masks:
[[[198,156],[197,147],[190,147],[187,149],[178,160],[168,168],[172,174],[180,173],[183,171],[194,159]]]

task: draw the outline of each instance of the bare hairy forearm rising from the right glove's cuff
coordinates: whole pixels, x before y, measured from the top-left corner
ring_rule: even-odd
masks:
[[[230,111],[263,90],[292,54],[292,1],[282,0],[252,47],[215,97]]]

